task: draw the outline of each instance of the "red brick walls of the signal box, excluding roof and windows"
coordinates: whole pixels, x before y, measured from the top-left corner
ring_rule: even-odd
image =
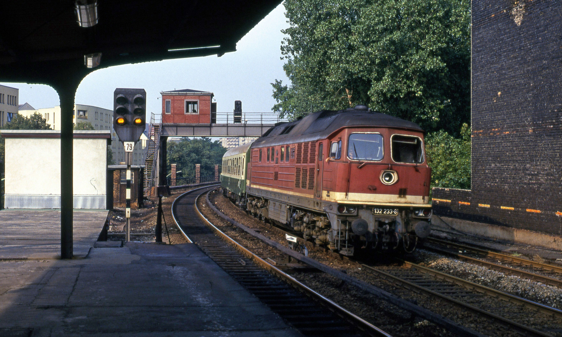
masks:
[[[171,101],[171,113],[166,113],[166,100]],[[198,113],[185,113],[185,101],[199,101]],[[166,95],[162,94],[163,123],[206,123],[211,122],[211,95]]]

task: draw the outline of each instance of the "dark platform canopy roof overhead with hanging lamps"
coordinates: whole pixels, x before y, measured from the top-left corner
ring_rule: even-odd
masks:
[[[93,2],[94,0],[79,0]],[[281,0],[97,0],[98,24],[80,27],[75,1],[2,1],[0,81],[55,86],[126,63],[221,55]],[[86,54],[101,53],[97,68]]]

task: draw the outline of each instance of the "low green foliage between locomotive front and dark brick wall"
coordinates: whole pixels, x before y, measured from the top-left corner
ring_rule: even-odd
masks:
[[[441,130],[425,138],[434,187],[470,189],[470,127],[463,124],[460,138]]]

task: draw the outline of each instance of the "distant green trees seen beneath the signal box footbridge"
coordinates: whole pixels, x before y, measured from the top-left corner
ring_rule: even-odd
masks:
[[[208,137],[183,139],[180,142],[167,143],[167,172],[171,172],[171,164],[182,171],[184,177],[195,176],[195,164],[201,164],[201,176],[215,174],[215,165],[221,165],[226,149],[218,140],[211,142]]]

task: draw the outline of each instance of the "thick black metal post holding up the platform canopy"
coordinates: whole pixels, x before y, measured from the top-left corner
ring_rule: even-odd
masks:
[[[76,88],[57,90],[61,101],[61,258],[72,258],[72,133]]]

